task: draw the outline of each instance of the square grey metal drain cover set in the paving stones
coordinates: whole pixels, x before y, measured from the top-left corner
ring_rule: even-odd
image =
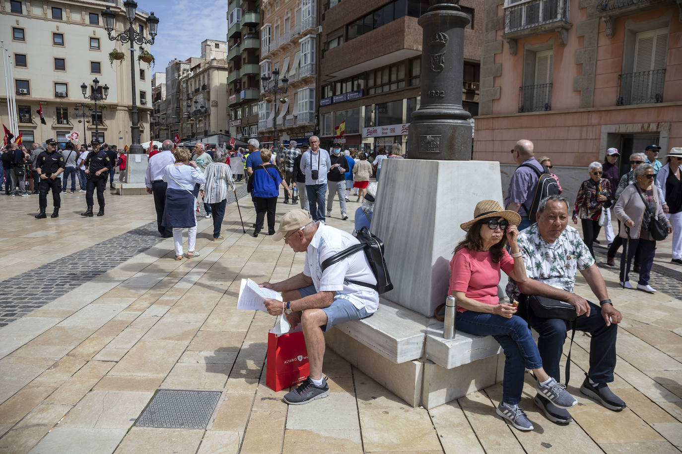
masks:
[[[135,421],[135,425],[162,429],[205,429],[220,394],[220,391],[161,389]]]

